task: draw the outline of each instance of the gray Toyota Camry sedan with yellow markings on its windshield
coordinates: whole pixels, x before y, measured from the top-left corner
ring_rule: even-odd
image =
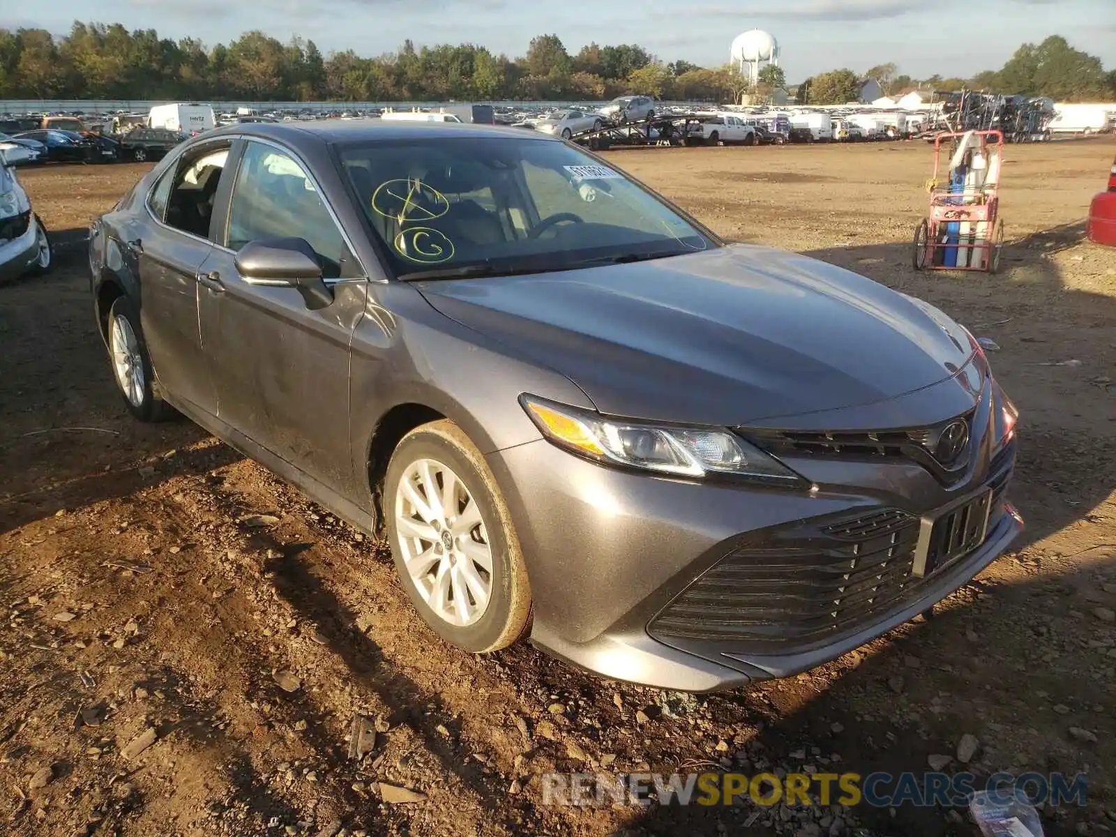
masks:
[[[783,676],[1022,528],[1017,410],[964,327],[729,246],[558,138],[210,132],[93,224],[89,263],[135,417],[183,414],[383,533],[469,652],[529,637],[686,691]]]

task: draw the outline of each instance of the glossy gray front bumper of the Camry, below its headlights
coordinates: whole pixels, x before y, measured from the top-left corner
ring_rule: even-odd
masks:
[[[811,668],[907,622],[970,581],[1022,529],[1021,517],[1003,499],[1014,443],[993,458],[990,446],[975,440],[974,460],[971,479],[945,488],[911,462],[786,459],[820,487],[806,492],[612,470],[542,440],[489,456],[528,565],[536,608],[532,643],[607,677],[687,692],[732,689]],[[825,531],[841,521],[859,525],[888,514],[917,530],[922,520],[982,487],[993,490],[992,511],[984,539],[972,551],[917,578],[911,530],[876,530],[872,537],[892,539],[885,560],[872,562],[867,574],[857,569],[860,575],[853,574],[847,589],[840,581],[837,593],[826,587],[835,584],[833,571],[840,560],[859,555],[869,566],[868,557],[882,554],[868,536],[853,543]],[[749,570],[775,566],[767,556],[778,549],[802,559],[801,575],[795,570],[777,579],[776,587],[766,578],[767,588],[732,588],[734,577],[741,585],[753,584]],[[802,617],[806,627],[769,631],[760,641],[701,625],[679,629],[677,618],[673,625],[664,618],[677,616],[674,606],[692,605],[687,591],[716,576],[722,586],[704,589],[700,598],[730,614],[729,622],[738,610],[778,596],[778,605],[768,610],[777,627],[780,608],[796,609],[807,600],[791,589],[804,581],[810,587],[808,605],[818,612]],[[700,617],[701,608],[691,606],[689,613]]]

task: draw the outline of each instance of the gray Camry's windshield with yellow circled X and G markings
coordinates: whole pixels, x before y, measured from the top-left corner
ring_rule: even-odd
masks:
[[[565,143],[463,136],[339,151],[398,276],[542,272],[718,247],[627,176]]]

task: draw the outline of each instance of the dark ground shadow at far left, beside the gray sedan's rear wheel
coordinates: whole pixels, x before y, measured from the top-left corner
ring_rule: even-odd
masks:
[[[97,334],[88,230],[51,231],[46,276],[0,285],[0,530],[241,459],[187,421],[127,413]]]

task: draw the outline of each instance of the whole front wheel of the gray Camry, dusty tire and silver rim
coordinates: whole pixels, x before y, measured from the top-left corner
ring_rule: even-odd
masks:
[[[448,473],[458,485],[452,514],[441,511]],[[426,502],[429,496],[416,485],[425,484],[427,478],[433,484],[432,493],[440,499],[423,510],[410,498]],[[496,478],[456,424],[439,421],[407,433],[387,465],[383,498],[395,570],[419,615],[435,634],[474,654],[506,648],[523,636],[531,620],[531,590],[519,539]],[[478,522],[468,532],[451,533],[454,519],[469,526],[471,520],[460,521],[473,507]],[[412,528],[401,535],[401,525]],[[423,538],[423,531],[430,537]],[[466,542],[474,548],[470,555],[461,546]],[[452,545],[450,551],[446,543]],[[485,548],[490,571],[474,560],[477,556],[483,558]],[[410,557],[414,565],[422,556],[429,556],[422,565],[425,573],[412,577],[406,559]],[[473,587],[468,587],[466,593],[468,583],[462,580],[465,567],[472,573],[473,584],[480,585],[478,593],[487,596],[483,604]],[[437,578],[445,576],[450,587],[440,591],[435,587]],[[460,593],[465,595],[453,596],[459,584]],[[459,607],[460,602],[465,604]]]

